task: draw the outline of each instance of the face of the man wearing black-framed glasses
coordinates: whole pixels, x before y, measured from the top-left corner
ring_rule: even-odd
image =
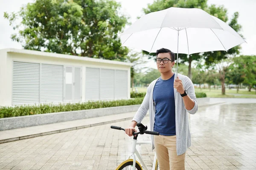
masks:
[[[172,67],[174,66],[175,62],[172,62],[171,59],[171,55],[169,53],[160,53],[157,55],[157,59],[165,59],[168,62],[164,63],[163,60],[160,63],[157,63],[157,69],[160,73],[166,73],[169,71],[172,71]]]

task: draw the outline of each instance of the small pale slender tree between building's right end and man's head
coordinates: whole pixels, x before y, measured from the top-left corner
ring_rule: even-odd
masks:
[[[131,53],[130,55],[128,55],[126,57],[126,61],[131,62],[131,63],[134,64],[133,66],[131,66],[131,88],[132,88],[132,91],[133,91],[133,89],[134,89],[134,75],[136,74],[136,71],[139,71],[139,70],[143,69],[143,67],[140,67],[140,69],[139,69],[139,68],[136,68],[136,66],[142,65],[145,62],[143,61],[142,55],[138,52],[134,52],[134,53]]]

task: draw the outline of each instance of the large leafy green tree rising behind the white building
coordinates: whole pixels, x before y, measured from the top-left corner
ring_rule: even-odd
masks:
[[[115,0],[35,0],[7,14],[24,49],[124,61],[118,37],[127,23]],[[22,19],[15,24],[15,20]]]

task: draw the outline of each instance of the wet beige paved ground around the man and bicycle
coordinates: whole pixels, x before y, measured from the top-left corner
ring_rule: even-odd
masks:
[[[192,146],[187,150],[186,170],[256,170],[256,102],[236,101],[227,99],[225,104],[199,108],[190,115]],[[130,153],[131,138],[110,126],[127,127],[130,122],[0,144],[0,169],[114,170]],[[149,125],[148,116],[142,123]],[[149,137],[139,136],[138,140]],[[137,149],[150,168],[151,146]]]

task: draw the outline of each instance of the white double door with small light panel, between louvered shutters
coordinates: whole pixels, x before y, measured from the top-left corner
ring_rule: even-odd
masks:
[[[64,101],[81,101],[81,68],[66,66],[64,73]]]

